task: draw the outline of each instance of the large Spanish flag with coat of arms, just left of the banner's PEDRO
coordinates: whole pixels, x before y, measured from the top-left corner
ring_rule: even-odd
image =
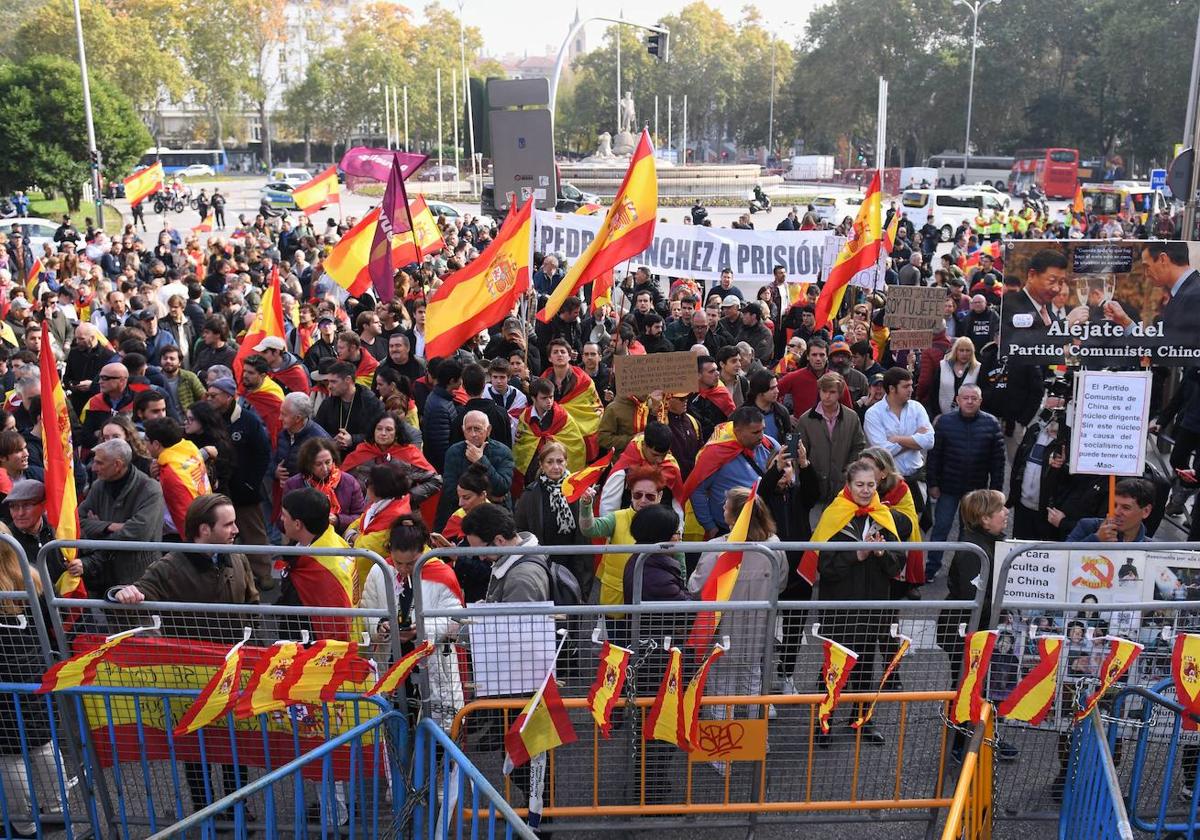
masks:
[[[510,314],[529,288],[533,202],[510,214],[492,244],[470,265],[455,271],[430,298],[425,312],[425,355],[448,356],[470,336]]]

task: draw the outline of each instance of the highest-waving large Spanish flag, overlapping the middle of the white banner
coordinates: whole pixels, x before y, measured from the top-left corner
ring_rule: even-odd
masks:
[[[548,322],[563,307],[563,301],[578,294],[589,281],[649,247],[654,241],[658,209],[659,181],[654,172],[654,146],[650,144],[650,133],[642,130],[642,139],[634,150],[625,180],[620,182],[620,190],[596,230],[596,238],[554,287],[545,308],[538,313],[538,320]]]

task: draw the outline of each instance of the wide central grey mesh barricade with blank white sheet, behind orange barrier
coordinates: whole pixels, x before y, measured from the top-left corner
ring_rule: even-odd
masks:
[[[430,715],[444,728],[456,724],[456,737],[473,760],[490,773],[498,768],[502,755],[500,736],[516,713],[536,690],[551,665],[546,656],[546,644],[552,644],[554,629],[566,628],[570,641],[557,660],[556,678],[562,684],[560,692],[568,698],[568,708],[581,709],[599,666],[601,643],[611,641],[631,650],[631,667],[626,679],[625,698],[618,707],[625,730],[634,731],[635,718],[644,714],[653,701],[662,678],[667,655],[667,637],[673,647],[684,649],[684,679],[696,670],[696,656],[706,650],[688,644],[694,619],[700,613],[719,612],[720,619],[715,638],[730,637],[730,650],[714,665],[709,673],[706,694],[719,696],[725,702],[706,702],[706,719],[736,721],[743,730],[754,730],[756,742],[769,743],[769,760],[760,757],[758,767],[772,767],[769,774],[743,773],[734,762],[739,785],[748,785],[738,793],[744,811],[754,821],[758,814],[770,811],[804,810],[811,814],[833,814],[838,810],[852,811],[864,802],[875,802],[881,811],[898,808],[902,818],[913,818],[914,810],[895,805],[898,800],[914,798],[922,808],[940,808],[949,803],[941,792],[932,793],[934,785],[941,785],[946,769],[942,740],[949,739],[942,722],[942,706],[955,688],[958,661],[961,659],[961,634],[970,631],[978,620],[984,593],[974,601],[780,601],[779,590],[786,581],[785,551],[808,548],[835,548],[838,551],[874,550],[878,544],[718,544],[719,550],[745,548],[746,558],[757,557],[757,565],[743,560],[742,574],[761,575],[768,582],[766,596],[761,600],[734,600],[722,602],[703,601],[641,601],[640,587],[635,589],[634,604],[578,606],[529,604],[486,604],[464,608],[430,608],[421,601],[420,588],[415,590],[414,623],[419,638],[431,638],[439,644],[440,660],[434,659],[422,676],[422,697]],[[712,551],[710,544],[672,544],[668,546],[572,546],[539,547],[538,553],[559,557],[580,554],[629,553],[635,581],[641,580],[641,564],[647,552],[695,552]],[[905,544],[908,548],[940,548],[943,551],[968,551],[979,557],[984,570],[990,558],[970,544]],[[488,547],[488,556],[497,556],[503,563],[506,556],[526,553],[524,548]],[[451,548],[426,552],[418,559],[414,580],[428,558],[450,559],[479,554],[478,548]],[[761,562],[767,558],[767,563]],[[739,578],[742,580],[742,578]],[[698,584],[694,584],[698,589]],[[817,592],[820,594],[820,589]],[[814,625],[820,625],[815,628]],[[816,635],[814,635],[816,630]],[[821,682],[822,637],[832,637],[852,648],[859,655],[859,664],[851,672],[844,701],[835,715],[832,738],[816,740],[820,756],[816,762],[821,772],[814,772],[815,758],[809,763],[802,749],[808,739],[808,728],[815,720],[814,691],[823,691]],[[875,710],[874,730],[868,727],[862,734],[848,728],[859,703],[869,702],[880,684],[884,667],[896,655],[901,642],[911,640],[908,655],[900,660],[895,674],[889,679],[882,702]],[[700,648],[707,648],[702,643]],[[551,648],[552,650],[552,648]],[[539,653],[541,652],[541,653]],[[457,680],[457,682],[455,682]],[[803,692],[784,695],[784,691]],[[900,694],[902,691],[907,694]],[[456,694],[456,691],[458,694]],[[778,694],[776,694],[778,692]],[[936,694],[943,692],[943,694]],[[799,700],[790,700],[790,697]],[[637,697],[634,701],[634,697]],[[904,698],[898,702],[895,698]],[[931,701],[936,697],[937,702]],[[924,704],[917,701],[923,701]],[[475,701],[475,702],[472,702]],[[461,710],[463,703],[473,714]],[[911,706],[910,706],[911,704]],[[636,707],[636,708],[635,708]],[[815,708],[815,707],[814,707]],[[590,718],[572,713],[576,728],[586,725],[590,732]],[[769,724],[767,722],[769,720]],[[582,721],[582,722],[581,722]],[[733,724],[731,724],[733,725]],[[776,733],[766,738],[767,728]],[[606,780],[630,780],[637,776],[635,766],[628,762],[638,755],[636,744],[628,744],[628,734],[616,734],[612,742],[583,737],[586,746],[595,746],[595,766],[590,761],[560,758],[554,763],[558,770],[550,774],[553,786],[553,809],[547,814],[562,816],[604,817],[606,815],[630,815],[642,808],[642,793],[628,785],[611,786]],[[788,730],[791,732],[788,733]],[[479,742],[475,743],[475,737]],[[469,738],[469,740],[468,740]],[[896,773],[884,784],[880,779],[865,782],[875,790],[870,796],[860,794],[857,781],[859,758],[864,760],[866,774],[878,770],[877,764],[888,766],[888,760],[876,762],[870,751],[876,750],[876,740],[884,739],[886,749],[898,750],[892,758],[898,760],[905,773]],[[930,740],[932,739],[932,740]],[[590,743],[594,740],[594,744]],[[472,745],[467,749],[467,745]],[[845,748],[854,745],[852,752]],[[671,763],[659,762],[659,748],[652,744],[644,755],[652,761],[646,773],[643,787],[652,791],[670,778],[682,778]],[[830,749],[832,748],[832,749]],[[564,752],[569,755],[570,748]],[[674,748],[666,748],[674,750]],[[682,754],[680,754],[682,755]],[[788,767],[788,762],[793,763]],[[683,763],[683,762],[677,762]],[[692,762],[695,763],[695,762]],[[713,764],[726,762],[714,758]],[[593,769],[593,767],[595,769]],[[700,762],[701,776],[714,768],[709,762]],[[778,768],[778,769],[776,769]],[[648,774],[648,775],[647,775]],[[768,792],[768,776],[774,785]],[[803,797],[794,791],[784,793],[782,779],[805,778]],[[492,776],[494,778],[494,776]],[[730,778],[728,774],[725,775]],[[497,780],[499,787],[499,781]],[[708,785],[713,787],[713,785]],[[880,791],[887,788],[888,796]],[[920,788],[919,796],[911,791]],[[508,787],[504,790],[509,791]],[[938,791],[941,788],[938,787]],[[736,797],[736,799],[738,798]],[[791,797],[791,798],[790,798]],[[787,803],[791,802],[792,805]],[[887,803],[887,804],[880,804]],[[652,803],[653,805],[653,803]],[[708,791],[701,799],[672,800],[656,814],[695,812],[701,805],[712,806],[716,812],[730,812],[731,800]],[[571,810],[571,809],[583,809]],[[563,810],[566,809],[566,810]],[[653,810],[653,809],[652,809]],[[836,816],[830,818],[836,820]],[[920,818],[925,818],[924,816]],[[572,826],[576,823],[572,822]]]

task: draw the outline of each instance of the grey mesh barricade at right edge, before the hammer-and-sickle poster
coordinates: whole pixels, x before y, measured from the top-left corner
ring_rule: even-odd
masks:
[[[1116,547],[1114,552],[1112,548]],[[1054,702],[1045,721],[1038,726],[1010,721],[1001,718],[997,721],[997,738],[1003,745],[1001,758],[1009,760],[997,768],[996,816],[1000,820],[1044,820],[1057,821],[1067,766],[1070,757],[1070,731],[1074,726],[1074,713],[1084,698],[1099,685],[1099,670],[1109,649],[1109,643],[1102,641],[1105,635],[1130,638],[1145,646],[1138,660],[1120,680],[1117,689],[1124,686],[1148,688],[1170,677],[1171,642],[1174,630],[1200,631],[1200,601],[1196,600],[1135,600],[1124,602],[1092,602],[1088,599],[1079,602],[1058,599],[1032,602],[1028,596],[1020,598],[1006,592],[1009,572],[1014,563],[1025,559],[1025,566],[1014,570],[1019,576],[1039,577],[1046,574],[1040,563],[1048,562],[1050,554],[1039,552],[1088,552],[1103,556],[1112,565],[1114,575],[1117,564],[1123,563],[1121,548],[1136,548],[1152,552],[1198,551],[1200,545],[1192,542],[1144,542],[1144,544],[1100,544],[1100,542],[1054,542],[1028,544],[1010,551],[997,562],[991,607],[990,626],[998,631],[995,652],[989,672],[986,696],[1000,703],[1016,685],[1021,677],[1034,667],[1039,660],[1037,649],[1038,635],[1057,635],[1063,637],[1060,659],[1058,683]],[[1106,552],[1106,553],[1105,553]],[[1111,554],[1111,557],[1109,557]],[[1039,560],[1034,569],[1026,556]],[[1074,560],[1072,562],[1074,563]],[[1139,569],[1139,574],[1145,570]],[[1069,578],[1066,569],[1054,569],[1054,575]],[[1139,582],[1141,586],[1141,582]],[[1140,589],[1139,589],[1140,592]],[[1156,590],[1157,592],[1157,590]],[[1166,632],[1164,634],[1164,630]],[[1102,713],[1111,714],[1111,696],[1100,702]],[[1112,746],[1112,760],[1118,776],[1128,781],[1132,763],[1129,742],[1138,739],[1138,728],[1133,724],[1118,726]],[[1162,766],[1168,762],[1169,738],[1162,737],[1147,743],[1146,761]],[[1130,809],[1133,811],[1134,809]]]

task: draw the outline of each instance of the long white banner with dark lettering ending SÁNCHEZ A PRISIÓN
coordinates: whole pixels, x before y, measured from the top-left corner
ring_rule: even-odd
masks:
[[[535,210],[533,216],[534,251],[562,253],[568,263],[583,253],[602,221],[551,210]],[[660,222],[650,247],[631,258],[630,266],[695,280],[719,280],[721,269],[730,268],[733,282],[752,296],[757,287],[772,282],[775,265],[784,266],[790,281],[815,282],[826,239],[817,230],[734,230]]]

